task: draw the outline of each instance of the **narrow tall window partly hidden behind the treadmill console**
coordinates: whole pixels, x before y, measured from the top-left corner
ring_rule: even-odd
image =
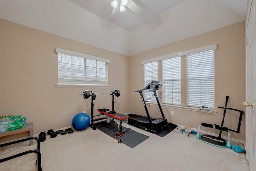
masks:
[[[158,70],[157,61],[144,64],[144,74],[145,74],[144,87],[146,87],[146,85],[151,83],[152,80],[158,80],[157,70]],[[154,93],[152,91],[146,90],[144,100],[149,102],[156,102],[156,97],[154,97]]]

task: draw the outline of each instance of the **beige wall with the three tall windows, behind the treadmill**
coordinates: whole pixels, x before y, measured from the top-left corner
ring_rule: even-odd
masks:
[[[218,48],[215,50],[215,110],[217,110],[217,113],[201,113],[201,121],[204,123],[221,125],[223,109],[219,109],[218,106],[224,107],[226,95],[229,96],[228,107],[245,111],[242,105],[242,102],[245,100],[244,29],[244,22],[240,22],[130,57],[130,80],[132,80],[130,82],[130,112],[146,115],[139,93],[133,93],[133,91],[142,89],[144,87],[143,65],[141,65],[142,60],[148,60],[167,54],[174,54],[177,52],[210,46],[216,43]],[[158,66],[161,66],[161,61],[159,61],[158,64]],[[182,109],[164,106],[162,106],[162,109],[169,122],[198,128],[200,123],[199,112],[186,110],[184,108],[187,106],[186,56],[182,56],[181,65]],[[161,70],[158,72],[161,72]],[[158,74],[158,80],[160,80],[160,82],[162,82],[161,79],[161,74]],[[158,98],[161,96],[161,91],[159,91]],[[151,117],[161,117],[158,106],[148,104],[147,107]],[[174,111],[174,115],[170,115],[171,111]],[[230,112],[230,110],[227,111],[224,127],[229,127],[230,129],[236,130],[239,114],[239,112]],[[219,131],[216,129],[206,127],[202,127],[202,130],[217,134],[219,133]],[[241,134],[232,133],[231,137],[244,140],[244,116],[240,132]],[[227,136],[227,133],[224,132],[222,135]]]

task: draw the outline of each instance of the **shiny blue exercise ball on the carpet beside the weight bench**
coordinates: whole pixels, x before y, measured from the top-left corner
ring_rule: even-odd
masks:
[[[78,113],[72,119],[72,126],[77,131],[82,131],[90,125],[90,116],[86,113]]]

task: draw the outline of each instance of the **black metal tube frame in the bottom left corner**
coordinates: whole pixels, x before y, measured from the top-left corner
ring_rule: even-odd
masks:
[[[37,141],[37,149],[36,150],[24,151],[22,153],[18,153],[16,155],[12,155],[12,156],[6,157],[4,159],[0,159],[0,163],[2,163],[4,161],[8,161],[10,159],[15,159],[17,157],[20,157],[22,155],[26,155],[26,154],[29,154],[29,153],[36,153],[37,154],[37,159],[36,159],[37,168],[38,168],[38,171],[42,171],[41,153],[40,153],[40,141],[39,141],[39,139],[37,137],[29,137],[29,138],[20,139],[20,140],[17,140],[17,141],[12,141],[10,143],[4,143],[4,144],[1,144],[0,147],[4,147],[4,146],[7,146],[7,145],[12,145],[12,144],[16,144],[16,143],[21,143],[23,141],[28,141],[28,140],[31,140],[31,139],[35,139]]]

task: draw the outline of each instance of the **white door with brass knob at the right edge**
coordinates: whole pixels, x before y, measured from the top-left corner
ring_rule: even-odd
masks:
[[[246,159],[256,171],[256,0],[250,0],[246,20]],[[247,103],[248,105],[248,103]]]

